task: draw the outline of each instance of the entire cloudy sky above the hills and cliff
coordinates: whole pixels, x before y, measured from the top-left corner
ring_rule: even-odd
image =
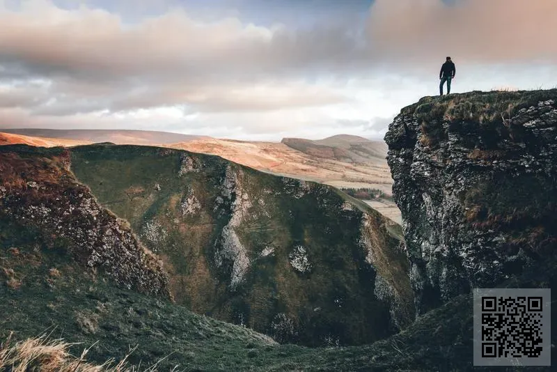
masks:
[[[0,128],[382,138],[439,93],[557,86],[556,0],[0,0]]]

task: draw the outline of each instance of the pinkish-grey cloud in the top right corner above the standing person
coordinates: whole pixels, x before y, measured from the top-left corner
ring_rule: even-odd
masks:
[[[557,1],[376,0],[368,36],[380,59],[406,63],[557,61]]]

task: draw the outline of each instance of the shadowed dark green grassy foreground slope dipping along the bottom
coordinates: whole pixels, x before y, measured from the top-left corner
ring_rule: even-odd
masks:
[[[407,330],[366,346],[304,348],[277,345],[246,327],[198,316],[177,304],[117,288],[102,275],[84,272],[65,247],[45,247],[36,231],[0,220],[0,318],[2,341],[45,331],[52,338],[82,342],[71,348],[97,364],[129,362],[159,371],[488,371],[472,366],[469,295],[419,316]],[[15,248],[17,247],[17,248]],[[555,263],[531,268],[501,286],[557,284]],[[552,269],[553,268],[553,269]],[[551,273],[553,270],[553,274]],[[8,277],[16,278],[15,286]],[[10,281],[10,284],[6,284]],[[556,332],[554,335],[555,343]],[[1,347],[0,347],[1,349]],[[553,350],[555,351],[555,350]],[[557,357],[552,355],[553,358]],[[162,360],[161,360],[162,359]],[[501,371],[547,371],[544,367]]]

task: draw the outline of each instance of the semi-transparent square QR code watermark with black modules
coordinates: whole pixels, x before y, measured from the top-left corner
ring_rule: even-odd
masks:
[[[476,288],[474,366],[551,366],[551,289]]]

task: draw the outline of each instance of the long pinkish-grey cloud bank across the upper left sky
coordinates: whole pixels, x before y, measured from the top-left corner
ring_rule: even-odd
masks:
[[[203,24],[174,10],[126,27],[104,10],[65,12],[37,4],[42,5],[27,13],[0,13],[0,61],[17,59],[22,68],[43,75],[237,79],[343,69],[366,56],[348,22],[295,32],[234,18]]]

